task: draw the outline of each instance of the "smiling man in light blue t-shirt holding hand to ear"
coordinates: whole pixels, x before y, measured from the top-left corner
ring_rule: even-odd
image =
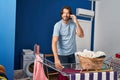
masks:
[[[55,66],[59,70],[63,68],[61,63],[75,63],[76,34],[84,37],[84,32],[69,6],[62,8],[61,18],[54,26],[52,38]]]

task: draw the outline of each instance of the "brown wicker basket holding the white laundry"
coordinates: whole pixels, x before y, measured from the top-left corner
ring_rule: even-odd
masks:
[[[102,69],[104,58],[88,58],[78,55],[82,69],[99,70]]]

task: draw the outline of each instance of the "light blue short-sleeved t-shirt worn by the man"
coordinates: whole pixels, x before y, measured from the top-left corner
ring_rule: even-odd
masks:
[[[54,26],[53,36],[58,36],[58,55],[71,55],[76,52],[76,25],[72,20],[68,24],[62,20]]]

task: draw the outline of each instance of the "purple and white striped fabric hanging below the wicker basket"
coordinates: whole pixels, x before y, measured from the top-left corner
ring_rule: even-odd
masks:
[[[70,80],[117,80],[117,72],[76,73],[70,75]]]

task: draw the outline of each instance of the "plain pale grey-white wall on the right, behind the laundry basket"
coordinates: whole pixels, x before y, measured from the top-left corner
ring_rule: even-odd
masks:
[[[94,50],[109,56],[120,52],[120,0],[96,2]]]

